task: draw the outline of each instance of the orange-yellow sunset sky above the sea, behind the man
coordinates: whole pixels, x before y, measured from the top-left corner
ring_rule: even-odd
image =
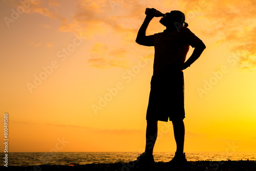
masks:
[[[1,0],[9,152],[143,151],[154,48],[135,38],[146,7],[184,12],[207,47],[184,70],[185,151],[256,151],[255,1]],[[159,19],[147,35],[165,29]],[[155,151],[176,150],[172,129],[159,122]]]

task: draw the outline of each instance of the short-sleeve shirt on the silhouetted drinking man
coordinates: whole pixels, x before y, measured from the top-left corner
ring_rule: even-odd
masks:
[[[185,27],[179,30],[164,30],[147,36],[147,40],[148,46],[155,47],[153,75],[165,74],[181,66],[185,62],[189,45],[194,48],[202,41]]]

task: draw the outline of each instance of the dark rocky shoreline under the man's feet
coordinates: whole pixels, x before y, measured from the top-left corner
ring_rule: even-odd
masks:
[[[22,170],[22,171],[50,171],[50,170],[88,170],[88,171],[128,171],[128,170],[217,170],[217,171],[256,171],[256,161],[188,161],[182,167],[169,167],[164,162],[157,162],[147,167],[132,167],[127,163],[97,163],[97,164],[70,164],[70,165],[39,165],[39,166],[0,166],[0,170]]]

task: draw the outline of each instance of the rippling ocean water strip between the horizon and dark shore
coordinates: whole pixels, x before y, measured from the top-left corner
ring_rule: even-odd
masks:
[[[4,161],[5,153],[0,153]],[[9,166],[28,165],[69,165],[92,163],[118,163],[136,160],[137,152],[57,152],[57,153],[8,153]],[[155,162],[167,162],[174,157],[174,152],[154,152]],[[188,161],[208,160],[256,160],[256,152],[187,152]]]

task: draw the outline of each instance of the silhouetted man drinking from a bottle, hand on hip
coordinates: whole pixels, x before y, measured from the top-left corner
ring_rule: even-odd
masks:
[[[169,164],[187,162],[184,148],[185,127],[184,80],[183,71],[199,58],[206,48],[202,40],[192,33],[185,23],[185,15],[180,11],[166,13],[160,23],[166,27],[161,33],[146,36],[146,29],[155,9],[147,13],[139,29],[136,42],[143,46],[154,46],[154,72],[151,80],[151,92],[146,113],[146,147],[136,162],[154,163],[153,148],[157,138],[157,122],[168,119],[173,122],[177,144],[175,157]],[[194,47],[193,54],[185,62],[189,46]]]

